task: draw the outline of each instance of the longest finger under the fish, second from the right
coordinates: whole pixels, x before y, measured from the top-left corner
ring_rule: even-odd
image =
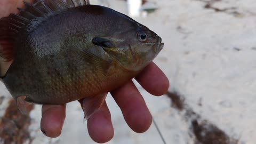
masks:
[[[111,91],[111,95],[121,108],[126,123],[133,131],[142,133],[149,129],[152,116],[142,95],[132,81]]]

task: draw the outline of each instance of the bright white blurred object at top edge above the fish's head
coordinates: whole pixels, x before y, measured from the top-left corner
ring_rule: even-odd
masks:
[[[140,17],[142,0],[127,0],[128,12],[130,17]]]

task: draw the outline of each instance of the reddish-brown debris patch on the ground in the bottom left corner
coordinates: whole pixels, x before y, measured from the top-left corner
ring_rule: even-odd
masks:
[[[27,140],[31,143],[28,127],[31,122],[29,113],[32,109],[34,109],[34,105],[26,103],[27,114],[22,115],[15,101],[13,99],[9,101],[9,106],[0,119],[0,143],[21,144]]]

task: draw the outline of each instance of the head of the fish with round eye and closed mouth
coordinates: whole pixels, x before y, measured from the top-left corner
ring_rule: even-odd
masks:
[[[161,37],[141,25],[106,39],[109,39],[108,46],[103,47],[103,50],[130,71],[145,68],[164,47]]]

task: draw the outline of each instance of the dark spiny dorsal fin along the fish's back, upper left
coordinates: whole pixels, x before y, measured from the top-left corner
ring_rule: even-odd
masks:
[[[90,4],[89,0],[34,0],[34,2],[34,4],[24,2],[25,8],[18,8],[19,14],[11,13],[9,17],[0,19],[0,57],[4,58],[5,62],[13,60],[13,44],[15,39],[19,31],[25,28],[31,21],[70,7]],[[0,60],[3,62],[2,59]],[[1,61],[0,72],[2,71],[1,65],[3,65]]]

